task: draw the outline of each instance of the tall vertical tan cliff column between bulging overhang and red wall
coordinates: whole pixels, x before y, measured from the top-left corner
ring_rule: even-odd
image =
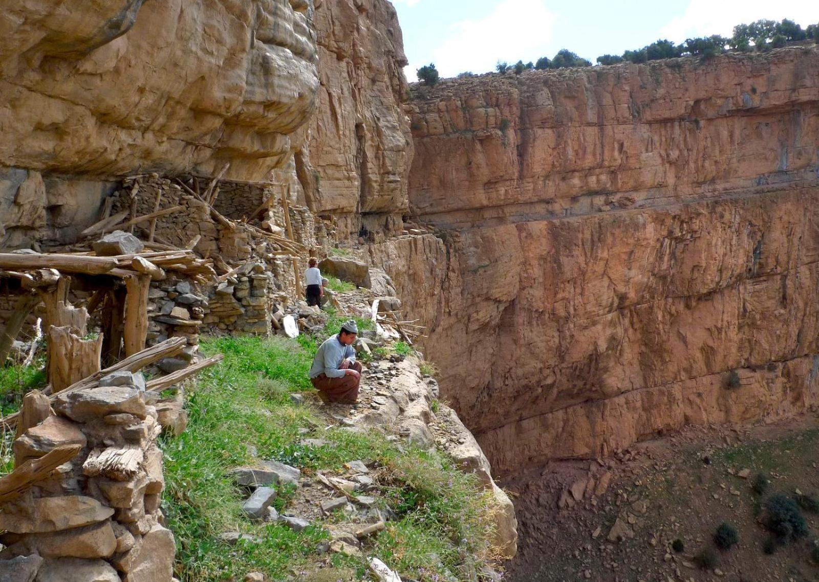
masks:
[[[396,11],[386,0],[324,0],[315,25],[319,106],[296,152],[306,203],[343,233],[400,232],[413,146]]]

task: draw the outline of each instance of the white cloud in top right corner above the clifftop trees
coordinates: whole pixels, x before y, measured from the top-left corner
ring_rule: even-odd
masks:
[[[819,20],[819,13],[811,0],[691,0],[682,16],[663,27],[659,38],[680,43],[710,34],[731,36],[734,25],[763,18],[790,18],[805,27]]]

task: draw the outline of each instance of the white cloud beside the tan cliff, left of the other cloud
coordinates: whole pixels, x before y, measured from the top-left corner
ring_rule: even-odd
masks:
[[[452,25],[446,39],[432,49],[432,62],[441,76],[451,77],[466,70],[494,70],[499,60],[512,64],[545,56],[554,18],[545,0],[504,0],[481,20]]]

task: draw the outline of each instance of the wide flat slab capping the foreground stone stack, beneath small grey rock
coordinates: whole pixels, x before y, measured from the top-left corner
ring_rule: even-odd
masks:
[[[76,422],[88,422],[108,414],[128,413],[145,419],[145,395],[132,386],[101,386],[57,395],[57,412]]]

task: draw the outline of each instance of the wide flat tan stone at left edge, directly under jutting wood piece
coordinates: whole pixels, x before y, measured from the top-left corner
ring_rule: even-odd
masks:
[[[113,509],[106,508],[91,497],[43,497],[4,506],[0,512],[0,530],[16,534],[45,534],[91,526],[113,514]]]

